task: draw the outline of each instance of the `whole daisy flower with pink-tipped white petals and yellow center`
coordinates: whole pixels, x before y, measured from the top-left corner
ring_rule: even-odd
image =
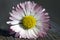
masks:
[[[42,6],[26,1],[13,7],[9,14],[11,16],[7,24],[10,24],[10,29],[16,32],[16,37],[30,39],[47,35],[50,17]]]

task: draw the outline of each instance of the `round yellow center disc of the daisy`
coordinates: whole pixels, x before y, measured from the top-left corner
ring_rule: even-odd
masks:
[[[25,16],[22,23],[25,29],[30,29],[36,25],[36,19],[33,16]]]

